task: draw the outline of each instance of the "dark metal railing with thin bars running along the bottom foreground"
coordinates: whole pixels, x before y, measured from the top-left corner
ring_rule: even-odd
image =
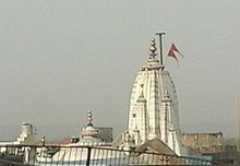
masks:
[[[207,159],[140,153],[104,146],[2,146],[0,166],[216,165]]]

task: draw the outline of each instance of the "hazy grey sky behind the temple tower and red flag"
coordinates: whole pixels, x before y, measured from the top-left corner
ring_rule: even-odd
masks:
[[[0,140],[22,122],[47,139],[96,126],[127,128],[136,72],[156,32],[184,55],[168,59],[184,132],[237,135],[239,0],[1,0]]]

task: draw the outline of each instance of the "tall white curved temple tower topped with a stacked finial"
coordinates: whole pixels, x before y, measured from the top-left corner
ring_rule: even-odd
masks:
[[[178,155],[182,155],[177,92],[168,71],[157,59],[155,39],[149,57],[133,83],[128,131],[135,145],[160,139]]]

